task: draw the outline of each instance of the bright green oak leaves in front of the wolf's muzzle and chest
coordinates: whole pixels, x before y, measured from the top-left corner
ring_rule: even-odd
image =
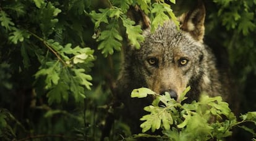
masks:
[[[248,112],[240,116],[241,121],[237,121],[234,113],[229,109],[228,103],[223,102],[220,96],[208,97],[202,94],[198,102],[181,103],[187,99],[184,95],[180,100],[171,99],[168,93],[158,95],[147,88],[134,89],[131,97],[143,98],[148,95],[156,97],[152,105],[144,108],[150,112],[140,118],[144,121],[140,124],[142,132],[145,133],[149,129],[155,132],[157,129],[163,129],[163,136],[139,134],[137,137],[156,137],[169,140],[223,140],[224,137],[232,135],[231,129],[239,124],[250,122],[256,126],[256,112]],[[178,102],[180,101],[180,102]],[[239,126],[245,131],[256,135],[253,129],[246,126]]]

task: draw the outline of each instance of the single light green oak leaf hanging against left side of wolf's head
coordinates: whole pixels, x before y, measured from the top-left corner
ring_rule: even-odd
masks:
[[[128,35],[128,39],[132,46],[135,46],[137,49],[140,47],[140,42],[144,41],[144,37],[142,35],[142,29],[140,25],[134,26],[135,22],[129,20],[128,18],[122,18],[122,24],[126,27],[126,33]]]

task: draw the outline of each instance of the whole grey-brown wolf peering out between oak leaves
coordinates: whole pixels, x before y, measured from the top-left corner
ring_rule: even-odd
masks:
[[[202,92],[210,97],[228,97],[226,79],[216,68],[216,57],[203,42],[205,7],[198,5],[179,17],[180,30],[173,20],[159,26],[155,32],[143,31],[145,41],[140,49],[127,47],[124,63],[116,83],[117,99],[124,103],[121,115],[132,128],[140,129],[139,119],[145,115],[143,107],[150,105],[151,97],[132,99],[133,89],[148,87],[156,94],[168,94],[178,100],[186,87],[187,102],[198,100]],[[224,80],[223,80],[224,79]]]

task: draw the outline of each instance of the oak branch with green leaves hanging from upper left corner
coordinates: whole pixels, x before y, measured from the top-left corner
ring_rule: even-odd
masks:
[[[72,47],[70,43],[62,46],[56,41],[56,38],[55,41],[51,39],[54,34],[57,36],[58,31],[64,30],[60,25],[56,28],[59,21],[56,17],[62,10],[54,6],[52,2],[45,1],[17,1],[12,2],[10,5],[4,4],[6,2],[2,4],[0,10],[2,32],[7,34],[6,38],[10,44],[21,46],[21,55],[25,68],[30,65],[30,56],[37,57],[41,66],[38,68],[35,78],[46,77],[45,89],[49,90],[47,94],[48,102],[50,104],[53,102],[59,103],[61,99],[67,101],[69,94],[75,97],[77,102],[85,98],[85,89],[82,86],[90,89],[92,84],[89,81],[92,80],[92,76],[83,73],[87,73],[90,70],[92,61],[95,60],[93,50],[89,47]],[[30,24],[39,26],[28,27],[25,25],[26,18],[21,22],[12,22],[14,20],[6,13],[6,11],[10,12],[10,14],[16,13],[17,19],[15,20],[20,20],[23,18],[25,10],[29,6],[33,6],[33,4],[36,7],[32,7],[30,11],[29,17],[33,19]],[[11,9],[10,6],[14,7]],[[38,14],[42,16],[36,16]],[[60,34],[58,36],[63,35]]]

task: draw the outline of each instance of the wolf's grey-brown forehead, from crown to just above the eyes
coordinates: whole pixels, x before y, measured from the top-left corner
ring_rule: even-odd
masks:
[[[197,56],[202,46],[189,34],[177,30],[173,22],[166,22],[158,27],[155,33],[145,31],[145,42],[142,44],[144,54],[174,57],[176,55]]]

